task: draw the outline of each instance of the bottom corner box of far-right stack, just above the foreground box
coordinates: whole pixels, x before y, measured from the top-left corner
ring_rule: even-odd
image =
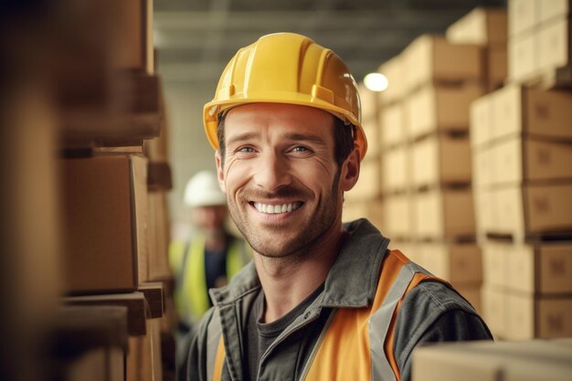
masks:
[[[572,298],[535,297],[507,292],[505,338],[528,340],[535,337],[572,336]]]

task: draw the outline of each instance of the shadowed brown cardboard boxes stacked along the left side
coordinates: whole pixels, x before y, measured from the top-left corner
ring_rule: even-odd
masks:
[[[173,379],[165,198],[171,178],[154,65],[153,1],[89,2],[71,12],[78,12],[83,27],[100,27],[94,38],[76,41],[92,58],[90,72],[62,59],[71,70],[61,72],[71,78],[62,87],[58,159],[63,303],[86,321],[97,321],[90,316],[98,308],[121,307],[128,336],[122,361],[109,363],[109,371],[93,373],[89,366],[99,363],[82,361],[69,365],[71,375]],[[69,307],[62,309],[69,313]],[[165,341],[172,346],[170,360],[162,354]]]

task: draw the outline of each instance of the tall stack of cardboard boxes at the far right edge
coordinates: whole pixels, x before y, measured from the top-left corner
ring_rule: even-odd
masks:
[[[504,339],[572,334],[568,5],[509,2],[509,80],[471,106],[483,315]]]

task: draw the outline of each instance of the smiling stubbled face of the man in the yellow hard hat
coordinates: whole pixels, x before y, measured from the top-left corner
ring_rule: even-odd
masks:
[[[306,106],[253,103],[228,112],[218,178],[230,216],[260,255],[302,255],[339,234],[342,194],[357,177],[348,182],[347,160],[335,163],[333,129],[334,116]]]

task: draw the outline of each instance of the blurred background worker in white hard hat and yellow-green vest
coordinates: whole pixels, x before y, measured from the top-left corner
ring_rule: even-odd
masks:
[[[201,171],[185,187],[193,232],[189,239],[173,241],[169,262],[175,275],[175,308],[178,315],[177,358],[183,363],[196,323],[212,306],[208,290],[222,287],[249,261],[243,239],[228,232],[226,196],[217,175]]]

